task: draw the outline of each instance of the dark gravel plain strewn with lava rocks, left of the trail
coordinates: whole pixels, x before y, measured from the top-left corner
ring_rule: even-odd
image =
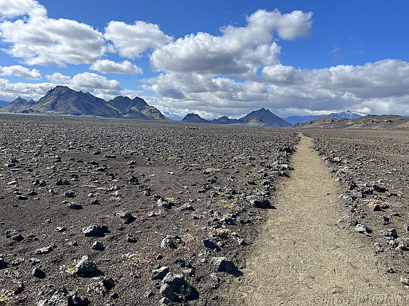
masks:
[[[0,290],[24,305],[220,304],[299,140],[291,130],[0,120]]]

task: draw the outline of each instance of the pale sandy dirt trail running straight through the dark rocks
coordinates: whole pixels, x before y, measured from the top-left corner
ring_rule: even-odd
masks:
[[[311,145],[304,136],[297,145],[294,171],[278,187],[277,209],[269,211],[239,285],[232,284],[230,304],[408,305],[409,291],[377,263],[364,241],[370,238],[337,224],[348,213]]]

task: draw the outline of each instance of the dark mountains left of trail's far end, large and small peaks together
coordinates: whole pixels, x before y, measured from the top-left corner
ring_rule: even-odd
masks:
[[[71,115],[85,117],[124,118],[138,120],[155,120],[173,122],[153,106],[148,105],[144,99],[135,97],[130,99],[117,96],[109,101],[96,97],[89,92],[75,91],[66,86],[57,86],[50,89],[38,101],[30,101],[17,97],[11,103],[0,108],[2,112],[30,113],[44,115]],[[166,113],[168,114],[168,113]],[[240,119],[230,119],[226,116],[218,119],[206,120],[196,114],[187,114],[184,122],[233,124],[244,126],[276,126],[286,127],[291,124],[264,108],[253,111]]]

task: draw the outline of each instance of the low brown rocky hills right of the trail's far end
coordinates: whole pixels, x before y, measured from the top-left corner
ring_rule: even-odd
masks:
[[[409,117],[397,115],[367,115],[355,119],[322,117],[313,121],[294,124],[296,128],[324,129],[367,129],[393,130],[408,129]]]

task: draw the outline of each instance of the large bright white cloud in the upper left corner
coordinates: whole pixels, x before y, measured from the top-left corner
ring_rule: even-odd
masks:
[[[5,2],[12,3],[6,16],[29,15],[29,18],[0,22],[0,38],[9,45],[6,52],[10,56],[22,58],[28,65],[59,66],[89,64],[101,57],[102,33],[90,25],[76,20],[48,18],[46,9],[35,1],[0,1],[0,7],[5,6]]]

